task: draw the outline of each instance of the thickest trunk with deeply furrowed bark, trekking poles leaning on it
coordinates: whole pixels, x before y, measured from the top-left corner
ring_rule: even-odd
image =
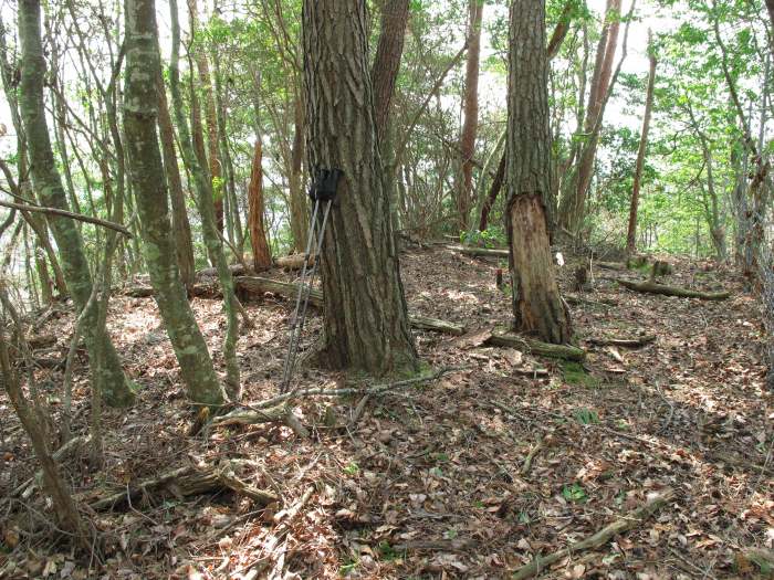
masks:
[[[374,375],[414,372],[389,199],[376,141],[364,0],[304,0],[308,167],[341,169],[322,252],[321,361]]]

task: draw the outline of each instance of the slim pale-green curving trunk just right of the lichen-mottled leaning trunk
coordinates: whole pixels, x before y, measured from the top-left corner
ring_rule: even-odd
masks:
[[[147,0],[144,0],[147,1]],[[169,0],[169,13],[171,21],[171,60],[169,62],[169,89],[172,96],[172,110],[180,136],[180,150],[182,158],[191,172],[194,187],[199,202],[199,213],[201,214],[201,230],[207,246],[210,261],[218,271],[218,280],[223,291],[223,312],[226,314],[226,338],[223,340],[223,358],[226,359],[226,393],[231,401],[238,401],[241,397],[241,386],[239,382],[239,361],[237,360],[237,339],[239,334],[238,302],[233,289],[233,276],[226,261],[223,243],[218,232],[218,223],[215,214],[215,202],[212,199],[212,182],[208,179],[207,166],[199,162],[191,140],[191,131],[184,113],[182,92],[180,91],[180,23],[177,11],[177,0]],[[196,119],[198,110],[198,99],[196,92],[191,91],[191,117],[192,129],[197,128]],[[199,127],[200,128],[200,127]]]

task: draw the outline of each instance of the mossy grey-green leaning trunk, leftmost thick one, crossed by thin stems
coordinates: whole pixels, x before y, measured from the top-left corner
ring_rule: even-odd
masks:
[[[40,28],[41,8],[39,0],[19,2],[19,36],[21,40],[21,83],[19,99],[21,117],[28,138],[30,172],[38,196],[43,205],[67,210],[67,198],[51,147],[49,127],[45,120],[43,102],[43,77],[45,61]],[[70,218],[49,215],[49,225],[62,259],[62,268],[73,300],[79,310],[86,307],[92,295],[92,276],[83,249],[83,240],[75,222]],[[104,400],[112,407],[126,407],[134,401],[134,391],[121,368],[121,360],[107,338],[105,329],[97,328],[97,312],[90,308],[84,328],[84,339],[93,360],[97,340],[105,340],[104,363],[96,376],[97,386]]]

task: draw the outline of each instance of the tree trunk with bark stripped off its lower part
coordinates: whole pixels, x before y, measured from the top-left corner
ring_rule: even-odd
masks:
[[[562,344],[572,330],[554,275],[544,201],[551,181],[544,0],[511,4],[510,46],[505,180],[514,327]]]

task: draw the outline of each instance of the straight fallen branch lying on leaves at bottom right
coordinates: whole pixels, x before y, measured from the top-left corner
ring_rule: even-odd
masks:
[[[562,548],[558,551],[550,553],[548,556],[537,557],[532,562],[526,566],[522,566],[516,573],[513,576],[514,580],[523,580],[524,578],[533,578],[540,574],[542,571],[546,570],[551,565],[559,561],[563,558],[572,557],[573,555],[600,548],[610,539],[613,539],[618,534],[629,531],[635,527],[639,526],[642,521],[652,516],[658,512],[665,504],[671,502],[674,498],[674,492],[670,488],[665,489],[660,494],[652,495],[645,505],[638,507],[626,514],[625,516],[616,519],[613,524],[604,527],[593,536],[588,538],[571,544],[566,548]]]

